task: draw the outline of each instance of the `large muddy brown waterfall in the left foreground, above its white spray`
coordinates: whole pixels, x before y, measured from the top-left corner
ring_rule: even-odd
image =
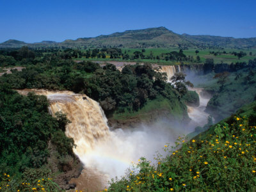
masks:
[[[108,120],[104,112],[98,102],[86,95],[46,90],[19,90],[18,92],[23,95],[28,92],[45,95],[50,102],[49,112],[52,115],[58,111],[67,115],[71,123],[67,125],[65,134],[68,138],[74,138],[77,145],[74,153],[79,157],[92,151],[97,142],[109,137]]]

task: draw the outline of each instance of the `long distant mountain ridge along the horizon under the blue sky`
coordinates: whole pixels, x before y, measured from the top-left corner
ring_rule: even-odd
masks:
[[[179,35],[167,28],[147,28],[127,30],[110,35],[77,38],[63,42],[42,41],[27,44],[18,40],[8,40],[0,47],[230,47],[230,48],[256,48],[256,38],[233,38],[211,35]]]

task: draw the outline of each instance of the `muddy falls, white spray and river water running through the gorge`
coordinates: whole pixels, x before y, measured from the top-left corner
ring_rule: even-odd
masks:
[[[175,74],[173,66],[162,67],[168,79]],[[180,67],[177,68],[180,70]],[[50,102],[49,113],[56,112],[67,115],[71,121],[65,134],[74,138],[76,148],[74,153],[84,164],[84,170],[70,183],[76,183],[76,189],[90,191],[102,190],[108,186],[108,180],[120,177],[132,162],[138,162],[140,157],[147,157],[154,162],[154,153],[161,152],[164,145],[174,145],[178,136],[195,131],[195,127],[207,123],[208,114],[204,112],[209,98],[202,97],[203,90],[192,88],[200,97],[200,106],[188,106],[191,122],[182,126],[178,122],[159,119],[152,125],[140,125],[133,129],[109,129],[108,119],[98,102],[84,94],[69,91],[18,90],[22,95],[34,92],[45,95]],[[155,162],[156,163],[156,162]]]

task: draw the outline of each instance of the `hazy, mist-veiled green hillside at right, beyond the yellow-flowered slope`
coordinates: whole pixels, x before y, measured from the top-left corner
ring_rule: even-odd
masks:
[[[230,72],[229,76],[221,73],[218,83],[213,83],[207,88],[207,90],[214,93],[207,104],[207,112],[216,120],[221,120],[235,113],[244,104],[255,100],[255,84],[255,68]]]

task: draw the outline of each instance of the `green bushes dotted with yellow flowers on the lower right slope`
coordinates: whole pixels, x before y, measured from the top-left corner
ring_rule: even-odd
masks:
[[[141,158],[108,191],[255,191],[256,127],[236,116],[216,132],[165,145],[168,155],[157,156],[156,165]]]

